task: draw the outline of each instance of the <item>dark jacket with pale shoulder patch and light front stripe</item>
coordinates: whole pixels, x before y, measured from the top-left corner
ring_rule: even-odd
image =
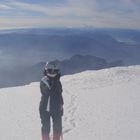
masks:
[[[58,78],[48,78],[44,76],[40,82],[41,101],[40,114],[49,112],[51,114],[62,113],[64,104],[62,97],[62,85]]]

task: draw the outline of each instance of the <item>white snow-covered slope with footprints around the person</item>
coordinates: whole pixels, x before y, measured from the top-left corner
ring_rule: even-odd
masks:
[[[140,66],[61,78],[64,140],[140,140]],[[0,139],[41,140],[39,83],[0,89]]]

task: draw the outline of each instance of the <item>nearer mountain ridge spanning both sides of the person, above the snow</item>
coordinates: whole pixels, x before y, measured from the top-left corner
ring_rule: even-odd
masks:
[[[105,59],[91,55],[74,55],[70,59],[54,60],[60,67],[61,74],[75,74],[85,70],[99,70],[103,68],[123,66],[123,61],[113,61],[108,63]],[[15,71],[3,71],[0,86],[18,86],[31,82],[40,81],[43,76],[43,69],[46,62],[40,62],[28,68]]]

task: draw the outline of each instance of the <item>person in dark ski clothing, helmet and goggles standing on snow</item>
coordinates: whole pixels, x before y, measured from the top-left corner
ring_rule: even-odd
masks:
[[[44,77],[40,82],[41,101],[39,106],[42,123],[42,140],[50,140],[50,118],[53,122],[53,140],[62,134],[63,97],[60,70],[55,62],[46,63]]]

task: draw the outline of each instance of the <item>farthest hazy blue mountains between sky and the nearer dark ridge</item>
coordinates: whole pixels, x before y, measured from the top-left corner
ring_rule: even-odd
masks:
[[[76,54],[140,64],[140,31],[123,29],[20,29],[0,31],[0,69],[29,66]],[[8,67],[8,68],[9,68]]]

